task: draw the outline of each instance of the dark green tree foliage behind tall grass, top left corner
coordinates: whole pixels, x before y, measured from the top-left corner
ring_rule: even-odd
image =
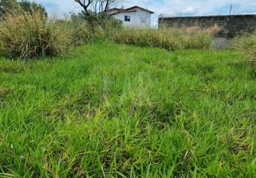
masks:
[[[41,11],[44,16],[47,16],[46,9],[41,4],[36,4],[35,2],[27,1],[27,0],[0,0],[0,16],[3,16],[6,11],[11,11],[11,9],[17,8],[20,6],[24,11],[32,12],[32,11]]]

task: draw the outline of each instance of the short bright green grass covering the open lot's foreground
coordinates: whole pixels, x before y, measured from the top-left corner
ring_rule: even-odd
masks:
[[[110,42],[1,58],[0,177],[253,177],[244,58]]]

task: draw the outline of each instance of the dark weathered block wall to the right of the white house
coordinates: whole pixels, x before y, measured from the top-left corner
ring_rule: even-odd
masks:
[[[207,28],[217,24],[221,31],[217,36],[232,38],[241,33],[256,31],[256,15],[195,16],[159,18],[159,28],[183,28],[200,26]]]

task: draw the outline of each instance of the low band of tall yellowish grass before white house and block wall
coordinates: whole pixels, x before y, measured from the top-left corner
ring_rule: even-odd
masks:
[[[111,38],[119,43],[136,46],[164,48],[169,51],[179,49],[208,49],[212,45],[212,32],[197,28],[192,31],[186,28],[122,28],[114,31]]]

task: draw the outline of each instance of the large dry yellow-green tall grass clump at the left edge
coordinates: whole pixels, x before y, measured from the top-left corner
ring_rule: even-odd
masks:
[[[57,23],[23,9],[8,11],[0,23],[0,53],[9,58],[51,57],[67,49],[69,39]]]

